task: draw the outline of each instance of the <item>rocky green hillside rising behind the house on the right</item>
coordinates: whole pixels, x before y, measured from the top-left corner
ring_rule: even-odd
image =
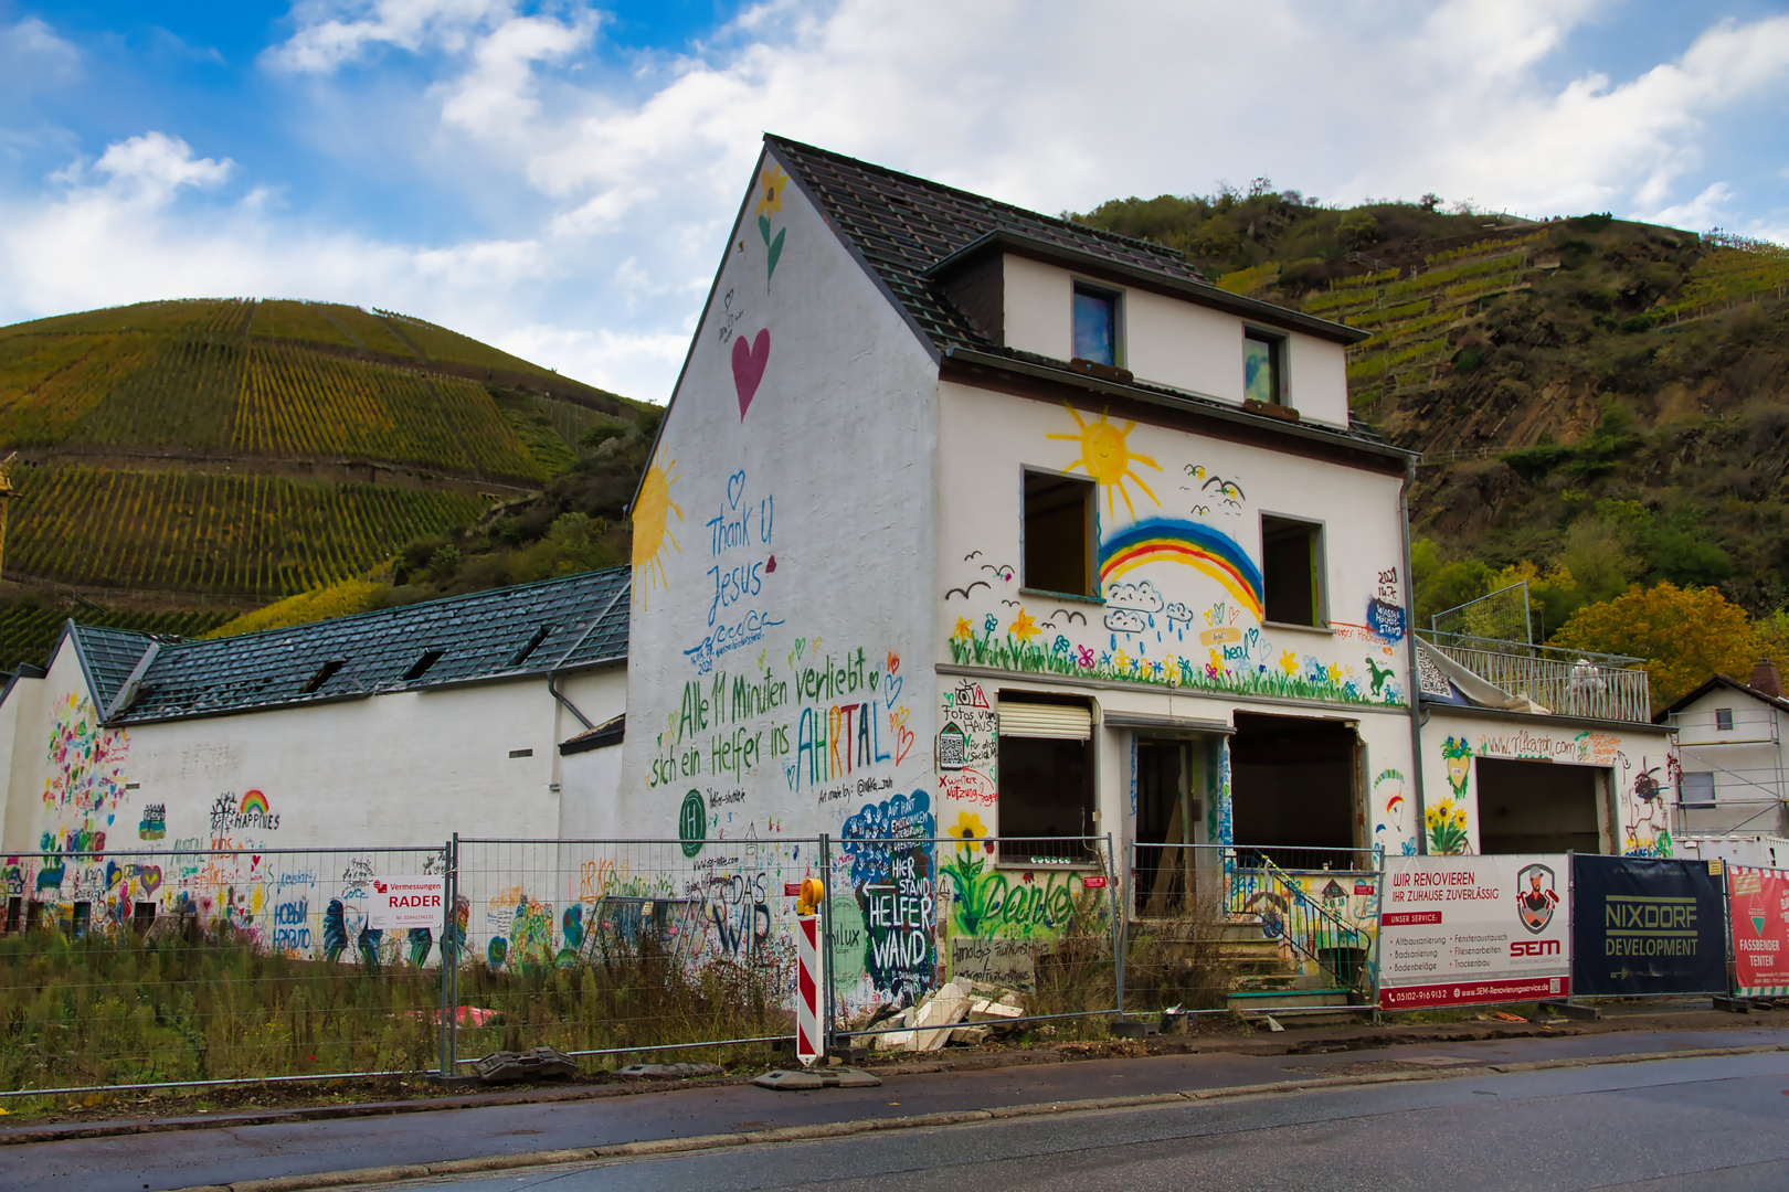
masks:
[[[1789,600],[1789,250],[1433,198],[1338,211],[1265,180],[1072,218],[1372,331],[1351,402],[1424,452],[1419,618],[1524,575],[1546,634],[1632,583],[1755,618]]]

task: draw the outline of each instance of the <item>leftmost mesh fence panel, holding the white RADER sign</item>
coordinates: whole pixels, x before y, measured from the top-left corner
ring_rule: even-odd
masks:
[[[438,931],[379,931],[376,877],[445,849],[13,854],[0,867],[0,1095],[415,1072]]]

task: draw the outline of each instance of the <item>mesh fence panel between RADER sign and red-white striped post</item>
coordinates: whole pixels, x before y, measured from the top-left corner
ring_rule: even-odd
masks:
[[[456,854],[454,1053],[789,1035],[789,888],[821,872],[818,838],[462,838]]]

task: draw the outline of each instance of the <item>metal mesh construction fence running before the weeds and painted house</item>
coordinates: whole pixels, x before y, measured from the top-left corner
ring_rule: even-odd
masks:
[[[1013,1026],[1095,1033],[1127,1013],[1379,1003],[1392,904],[1378,851],[1143,844],[1118,856],[1106,836],[911,827],[11,856],[0,1095],[451,1076],[537,1045],[744,1056],[791,1035],[805,877],[827,888],[834,1042],[911,1035],[889,1013],[946,981],[1023,992]],[[374,928],[370,890],[392,877],[438,881],[438,924]],[[1748,981],[1780,983],[1764,969]]]

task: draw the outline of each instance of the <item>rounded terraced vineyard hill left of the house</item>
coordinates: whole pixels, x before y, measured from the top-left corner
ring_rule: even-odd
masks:
[[[0,667],[206,631],[544,488],[642,406],[390,311],[181,300],[0,327]],[[27,599],[29,597],[29,599]],[[21,602],[23,600],[23,602]],[[84,600],[84,604],[81,604]]]

